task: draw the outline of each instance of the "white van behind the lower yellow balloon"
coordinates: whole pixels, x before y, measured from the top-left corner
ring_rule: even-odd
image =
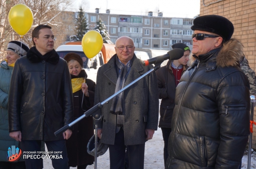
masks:
[[[96,83],[98,69],[100,66],[104,64],[103,57],[102,57],[103,55],[101,51],[92,59],[88,59],[88,57],[86,57],[82,49],[82,45],[60,45],[56,49],[56,52],[62,58],[70,52],[74,52],[80,55],[84,61],[83,69],[86,71],[88,75],[87,78],[91,79]]]

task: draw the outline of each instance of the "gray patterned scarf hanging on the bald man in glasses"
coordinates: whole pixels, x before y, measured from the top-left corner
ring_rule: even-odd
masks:
[[[124,88],[124,83],[130,71],[130,67],[132,66],[132,59],[126,65],[124,65],[118,60],[118,57],[116,55],[116,65],[120,69],[120,73],[118,75],[118,79],[116,82],[115,93],[121,90],[122,88]],[[112,114],[123,113],[123,94],[124,92],[121,92],[120,94],[118,94],[113,98],[112,106],[110,108],[110,113]]]

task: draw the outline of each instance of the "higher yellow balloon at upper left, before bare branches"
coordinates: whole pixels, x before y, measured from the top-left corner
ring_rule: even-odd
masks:
[[[9,12],[9,23],[19,35],[25,35],[33,24],[33,13],[24,4],[14,5]]]

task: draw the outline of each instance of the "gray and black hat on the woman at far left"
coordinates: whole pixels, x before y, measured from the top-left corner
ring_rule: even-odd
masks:
[[[28,50],[28,45],[22,41],[10,41],[7,46],[7,51],[13,51],[19,56],[25,56]]]

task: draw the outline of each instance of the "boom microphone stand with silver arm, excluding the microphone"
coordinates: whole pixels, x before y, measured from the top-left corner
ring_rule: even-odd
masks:
[[[82,120],[85,117],[89,117],[90,115],[93,116],[93,118],[95,120],[100,120],[101,116],[100,114],[98,114],[98,110],[100,110],[102,108],[102,106],[108,102],[109,100],[111,100],[112,98],[114,98],[115,96],[117,96],[118,94],[120,94],[121,92],[123,92],[124,90],[126,90],[127,88],[129,88],[130,86],[132,86],[134,83],[136,83],[137,81],[139,81],[140,79],[146,77],[148,74],[150,74],[153,71],[156,71],[157,69],[160,68],[161,63],[157,63],[155,64],[154,67],[152,67],[152,69],[150,69],[148,72],[146,72],[144,75],[142,75],[141,77],[139,77],[138,79],[134,80],[132,83],[130,83],[129,85],[125,86],[124,88],[122,88],[121,90],[119,90],[118,92],[116,92],[115,94],[113,94],[112,96],[110,96],[109,98],[107,98],[106,100],[104,100],[101,103],[96,104],[95,106],[93,106],[92,108],[90,108],[89,110],[87,110],[86,112],[84,112],[84,114],[82,116],[80,116],[79,118],[77,118],[76,120],[74,120],[73,122],[71,122],[70,124],[67,124],[66,126],[60,128],[58,131],[54,132],[55,136],[59,136],[60,134],[62,134],[63,132],[65,132],[66,130],[68,130],[71,126],[73,126],[74,124],[76,124],[77,122],[79,122],[80,120]],[[97,130],[98,130],[98,125],[95,124],[95,129],[96,129],[96,134],[95,134],[95,155],[94,155],[94,169],[97,169],[97,145],[98,145],[98,136],[97,136]]]

